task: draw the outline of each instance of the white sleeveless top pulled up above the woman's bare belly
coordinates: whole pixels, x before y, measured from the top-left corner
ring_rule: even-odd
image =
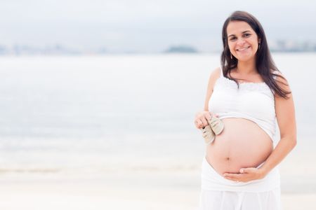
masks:
[[[276,132],[275,97],[263,83],[239,83],[220,71],[209,100],[209,111],[223,118],[244,118],[256,123],[274,141]]]

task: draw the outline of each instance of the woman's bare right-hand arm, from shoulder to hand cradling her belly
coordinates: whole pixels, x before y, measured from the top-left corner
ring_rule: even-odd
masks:
[[[277,83],[284,90],[291,91],[289,85],[285,85],[287,80],[279,77],[277,78]],[[293,96],[292,94],[287,96],[289,99],[284,99],[275,94],[275,113],[281,139],[267,160],[265,160],[265,163],[258,169],[254,167],[240,169],[240,174],[225,173],[223,176],[226,179],[242,182],[263,179],[296,146],[296,120]]]

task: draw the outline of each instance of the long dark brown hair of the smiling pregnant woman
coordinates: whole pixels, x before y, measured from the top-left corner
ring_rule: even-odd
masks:
[[[260,48],[258,48],[256,52],[256,69],[263,78],[263,81],[270,87],[270,90],[272,90],[272,92],[275,92],[280,97],[287,99],[287,94],[290,94],[291,92],[288,92],[287,90],[284,90],[282,87],[280,87],[274,79],[274,77],[276,76],[282,78],[284,77],[278,73],[279,69],[277,69],[277,66],[275,66],[275,62],[273,62],[273,59],[270,55],[270,50],[268,48],[268,42],[265,38],[263,27],[253,15],[244,11],[235,11],[234,13],[232,13],[232,15],[230,15],[230,17],[225,20],[223,25],[223,52],[220,57],[223,75],[228,78],[228,75],[230,76],[230,71],[232,71],[232,69],[235,69],[238,64],[238,60],[234,56],[231,57],[230,49],[228,48],[227,27],[231,21],[246,22],[256,32],[258,38],[261,40]],[[230,79],[234,80],[235,83],[237,83],[237,80],[235,80],[235,78],[232,78],[230,76]],[[286,79],[284,78],[284,80]],[[283,84],[287,85],[286,83]],[[239,87],[239,83],[237,83],[237,85]]]

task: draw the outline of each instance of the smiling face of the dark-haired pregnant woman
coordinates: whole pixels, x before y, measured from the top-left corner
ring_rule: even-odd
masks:
[[[256,58],[260,40],[254,29],[243,21],[232,21],[226,29],[228,34],[228,47],[232,56],[238,61],[249,61]]]

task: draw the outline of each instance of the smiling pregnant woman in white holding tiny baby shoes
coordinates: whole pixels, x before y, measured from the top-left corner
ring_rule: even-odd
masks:
[[[198,129],[213,116],[224,125],[206,144],[200,209],[281,209],[277,165],[296,146],[289,84],[272,61],[253,15],[232,13],[222,38],[221,67],[211,73],[204,111],[195,118]]]

